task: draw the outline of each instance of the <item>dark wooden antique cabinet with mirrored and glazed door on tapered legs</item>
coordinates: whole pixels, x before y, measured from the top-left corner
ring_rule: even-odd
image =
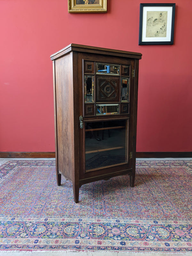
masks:
[[[130,176],[134,186],[141,53],[70,44],[53,62],[57,184]]]

